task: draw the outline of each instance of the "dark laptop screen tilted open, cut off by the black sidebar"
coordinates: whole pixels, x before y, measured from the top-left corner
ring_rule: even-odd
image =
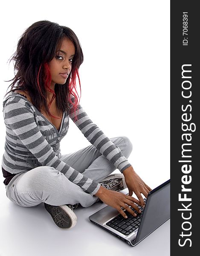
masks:
[[[166,181],[149,195],[142,221],[134,243],[152,233],[157,227],[170,218],[170,180]]]

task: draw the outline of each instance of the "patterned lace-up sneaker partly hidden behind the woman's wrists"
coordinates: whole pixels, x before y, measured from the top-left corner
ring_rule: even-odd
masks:
[[[99,182],[106,189],[120,191],[126,189],[125,177],[122,173],[111,174]]]

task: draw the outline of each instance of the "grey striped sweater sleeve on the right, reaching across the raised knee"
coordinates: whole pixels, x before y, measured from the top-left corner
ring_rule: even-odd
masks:
[[[74,103],[75,97],[71,95],[71,100]],[[75,121],[75,115],[77,120]],[[114,164],[116,169],[123,172],[131,164],[126,157],[122,154],[122,151],[117,147],[101,129],[92,122],[87,113],[78,105],[78,110],[74,113],[73,105],[70,105],[70,118],[78,126],[87,140],[99,150],[111,163]]]

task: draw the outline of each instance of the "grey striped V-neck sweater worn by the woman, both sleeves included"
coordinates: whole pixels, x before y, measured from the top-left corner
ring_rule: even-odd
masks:
[[[71,96],[72,102],[75,99]],[[78,105],[78,120],[75,121],[73,105],[63,113],[61,128],[58,131],[45,116],[25,97],[11,92],[3,101],[3,117],[6,125],[5,152],[2,167],[7,172],[17,174],[38,166],[52,166],[62,172],[71,182],[84,192],[95,195],[100,184],[91,180],[59,158],[60,142],[69,129],[69,118],[78,126],[87,140],[123,172],[130,163],[120,149],[95,125]]]

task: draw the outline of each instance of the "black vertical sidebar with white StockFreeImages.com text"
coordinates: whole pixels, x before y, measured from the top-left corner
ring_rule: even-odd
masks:
[[[171,1],[171,255],[199,251],[200,10]],[[179,254],[180,253],[180,254]]]

